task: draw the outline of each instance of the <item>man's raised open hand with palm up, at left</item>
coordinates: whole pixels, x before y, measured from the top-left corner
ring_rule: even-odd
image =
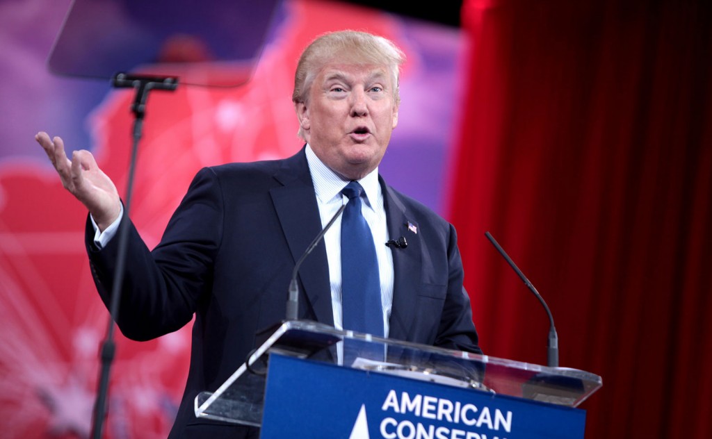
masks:
[[[65,189],[89,209],[99,230],[104,231],[121,211],[121,199],[113,181],[90,152],[75,151],[70,160],[60,137],[50,139],[46,132],[38,132],[35,140],[47,153]]]

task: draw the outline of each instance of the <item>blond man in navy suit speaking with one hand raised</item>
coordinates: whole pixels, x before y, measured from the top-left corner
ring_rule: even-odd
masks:
[[[306,144],[293,157],[199,171],[150,251],[129,224],[117,324],[147,340],[195,317],[189,376],[171,437],[251,437],[255,429],[197,419],[193,401],[214,391],[256,347],[256,332],[283,319],[295,260],[347,203],[357,181],[375,248],[379,332],[480,353],[454,228],[385,184],[377,172],[398,122],[403,53],[384,38],[344,31],[316,39],[295,73],[293,102]],[[102,299],[110,303],[118,225],[130,222],[89,152],[69,160],[59,137],[39,133],[66,188],[87,206],[86,245]],[[384,245],[389,240],[402,245]],[[298,317],[337,328],[342,307],[338,224],[299,272]]]

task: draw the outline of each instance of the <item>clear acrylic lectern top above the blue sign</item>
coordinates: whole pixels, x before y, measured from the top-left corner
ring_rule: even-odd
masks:
[[[357,359],[352,345],[382,358]],[[575,408],[602,386],[600,376],[586,371],[550,368],[449,349],[340,331],[310,321],[283,322],[271,328],[264,342],[220,388],[200,393],[195,399],[198,417],[227,423],[261,426],[270,356],[288,356],[308,364],[399,376],[443,386],[468,389],[490,397],[506,396],[543,405]],[[510,398],[510,399],[511,399]]]

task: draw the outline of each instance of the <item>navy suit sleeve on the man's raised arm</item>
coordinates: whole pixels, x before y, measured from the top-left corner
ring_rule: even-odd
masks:
[[[209,168],[195,176],[173,214],[161,242],[150,251],[128,215],[126,265],[119,310],[113,316],[130,339],[148,340],[174,332],[190,322],[211,288],[212,268],[221,244],[223,199]],[[120,228],[121,230],[121,228]],[[121,232],[119,232],[121,233]],[[98,250],[87,220],[85,245],[100,297],[109,308],[120,236]]]

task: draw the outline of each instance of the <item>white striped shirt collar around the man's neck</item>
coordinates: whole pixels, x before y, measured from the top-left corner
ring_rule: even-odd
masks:
[[[341,190],[350,180],[343,179],[339,174],[332,171],[329,166],[326,166],[316,156],[309,144],[306,146],[305,153],[314,184],[314,191],[319,201],[329,203],[336,198],[341,199]],[[366,193],[367,204],[373,208],[373,203],[379,199],[381,192],[381,185],[378,183],[378,167],[357,181]]]

